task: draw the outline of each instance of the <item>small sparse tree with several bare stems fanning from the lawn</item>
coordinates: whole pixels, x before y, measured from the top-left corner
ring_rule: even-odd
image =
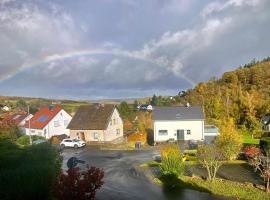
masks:
[[[222,155],[221,150],[215,144],[198,147],[197,158],[207,170],[209,180],[215,179],[218,169],[222,166]]]

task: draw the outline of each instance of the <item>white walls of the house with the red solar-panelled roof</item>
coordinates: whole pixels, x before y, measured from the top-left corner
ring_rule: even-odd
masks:
[[[49,139],[54,135],[66,134],[69,136],[69,129],[67,129],[66,127],[71,121],[71,118],[72,117],[65,110],[62,109],[43,129],[30,129],[31,135],[43,136],[46,137],[46,139]],[[67,120],[66,123],[65,120]],[[55,126],[55,121],[59,122],[59,126]],[[28,128],[26,128],[26,134],[29,135]]]

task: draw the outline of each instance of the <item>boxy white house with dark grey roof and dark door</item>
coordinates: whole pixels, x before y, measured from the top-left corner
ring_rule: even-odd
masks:
[[[199,106],[155,107],[154,141],[204,140],[204,114]]]

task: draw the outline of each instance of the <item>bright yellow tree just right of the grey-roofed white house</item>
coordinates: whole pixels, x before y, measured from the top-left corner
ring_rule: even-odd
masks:
[[[220,135],[215,144],[226,160],[233,160],[237,157],[242,148],[242,138],[236,131],[232,119],[224,121],[220,125]]]

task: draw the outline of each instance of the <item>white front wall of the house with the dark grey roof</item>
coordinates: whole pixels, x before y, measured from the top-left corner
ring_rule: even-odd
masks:
[[[184,130],[185,140],[203,140],[204,121],[154,121],[154,140],[155,142],[166,141],[170,138],[177,140],[177,130]],[[159,135],[159,130],[167,130],[168,135]],[[190,135],[187,134],[190,130]]]

